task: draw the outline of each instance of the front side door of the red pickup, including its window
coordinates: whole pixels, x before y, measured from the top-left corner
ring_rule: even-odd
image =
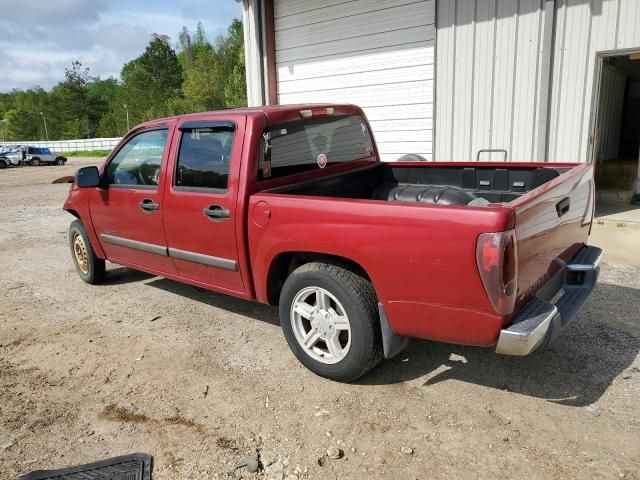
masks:
[[[162,228],[168,137],[168,127],[131,137],[105,166],[105,185],[91,193],[90,209],[109,260],[175,275]]]

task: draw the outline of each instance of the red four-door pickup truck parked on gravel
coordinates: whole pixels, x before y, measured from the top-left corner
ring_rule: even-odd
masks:
[[[380,162],[353,105],[144,123],[64,204],[84,281],[109,260],[279,305],[296,357],[341,381],[409,337],[549,344],[598,276],[593,208],[590,164]]]

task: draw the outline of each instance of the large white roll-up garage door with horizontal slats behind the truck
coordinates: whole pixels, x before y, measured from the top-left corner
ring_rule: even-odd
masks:
[[[435,0],[275,0],[278,102],[355,103],[383,160],[432,157]]]

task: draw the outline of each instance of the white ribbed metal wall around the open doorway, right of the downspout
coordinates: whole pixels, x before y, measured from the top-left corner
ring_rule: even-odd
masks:
[[[596,53],[640,48],[640,1],[557,0],[550,161],[587,160]]]

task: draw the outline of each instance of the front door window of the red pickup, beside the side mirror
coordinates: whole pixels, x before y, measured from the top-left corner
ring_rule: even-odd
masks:
[[[150,130],[131,138],[107,166],[107,183],[157,187],[168,130]]]

